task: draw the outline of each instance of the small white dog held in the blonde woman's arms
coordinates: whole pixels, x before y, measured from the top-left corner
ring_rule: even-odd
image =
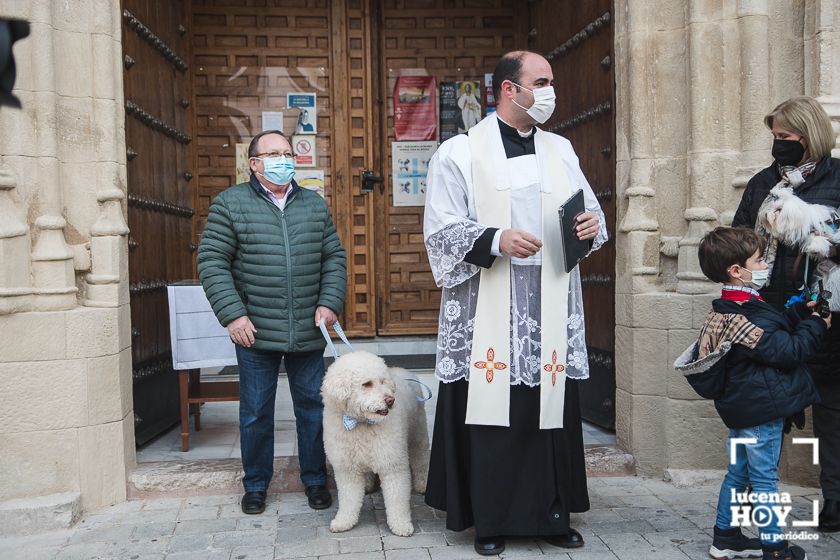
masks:
[[[831,246],[840,243],[837,210],[805,202],[792,189],[777,185],[759,207],[758,223],[781,243],[819,261],[816,278],[832,294],[831,310],[840,311],[840,266],[827,258]]]

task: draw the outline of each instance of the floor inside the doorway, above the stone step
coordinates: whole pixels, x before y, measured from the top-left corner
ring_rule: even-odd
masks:
[[[426,419],[429,434],[432,433],[435,403],[437,402],[437,381],[429,371],[413,372],[432,388],[432,399],[426,403]],[[181,461],[192,459],[239,459],[239,403],[206,403],[201,407],[201,431],[196,432],[190,420],[190,450],[181,451],[181,428],[175,426],[137,451],[137,462]],[[274,456],[297,455],[297,436],[289,395],[289,382],[285,375],[280,377],[275,401]],[[584,423],[584,444],[614,445],[615,434],[593,424]]]

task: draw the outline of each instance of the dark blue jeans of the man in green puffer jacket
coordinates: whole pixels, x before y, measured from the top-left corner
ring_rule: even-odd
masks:
[[[239,433],[246,492],[265,491],[274,473],[274,399],[280,362],[292,393],[298,436],[300,479],[304,486],[327,482],[321,419],[324,351],[272,352],[236,346],[239,362]]]

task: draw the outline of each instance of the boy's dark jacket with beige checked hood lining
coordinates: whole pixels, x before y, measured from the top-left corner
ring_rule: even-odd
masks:
[[[716,336],[708,336],[709,326],[717,327]],[[825,331],[804,304],[780,313],[755,297],[716,299],[700,340],[674,367],[700,396],[714,399],[729,428],[758,426],[819,402],[805,361]]]

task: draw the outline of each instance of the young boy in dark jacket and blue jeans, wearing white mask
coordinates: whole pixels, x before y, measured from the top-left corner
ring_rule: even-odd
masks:
[[[710,280],[722,283],[723,291],[712,302],[699,339],[674,365],[701,396],[714,399],[729,428],[729,468],[720,487],[709,554],[804,560],[805,551],[783,539],[776,514],[761,519],[760,525],[766,521],[766,526],[757,528],[760,539],[747,538],[740,529],[745,511],[772,511],[759,500],[778,496],[785,418],[819,400],[805,361],[831,325],[830,317],[813,312],[813,302],[779,312],[761,299],[758,290],[769,272],[762,257],[764,245],[761,236],[742,228],[719,227],[703,238],[700,268]],[[735,438],[753,442],[737,442],[733,448]],[[755,503],[742,503],[748,488]],[[786,521],[785,531],[793,530],[791,519]]]

